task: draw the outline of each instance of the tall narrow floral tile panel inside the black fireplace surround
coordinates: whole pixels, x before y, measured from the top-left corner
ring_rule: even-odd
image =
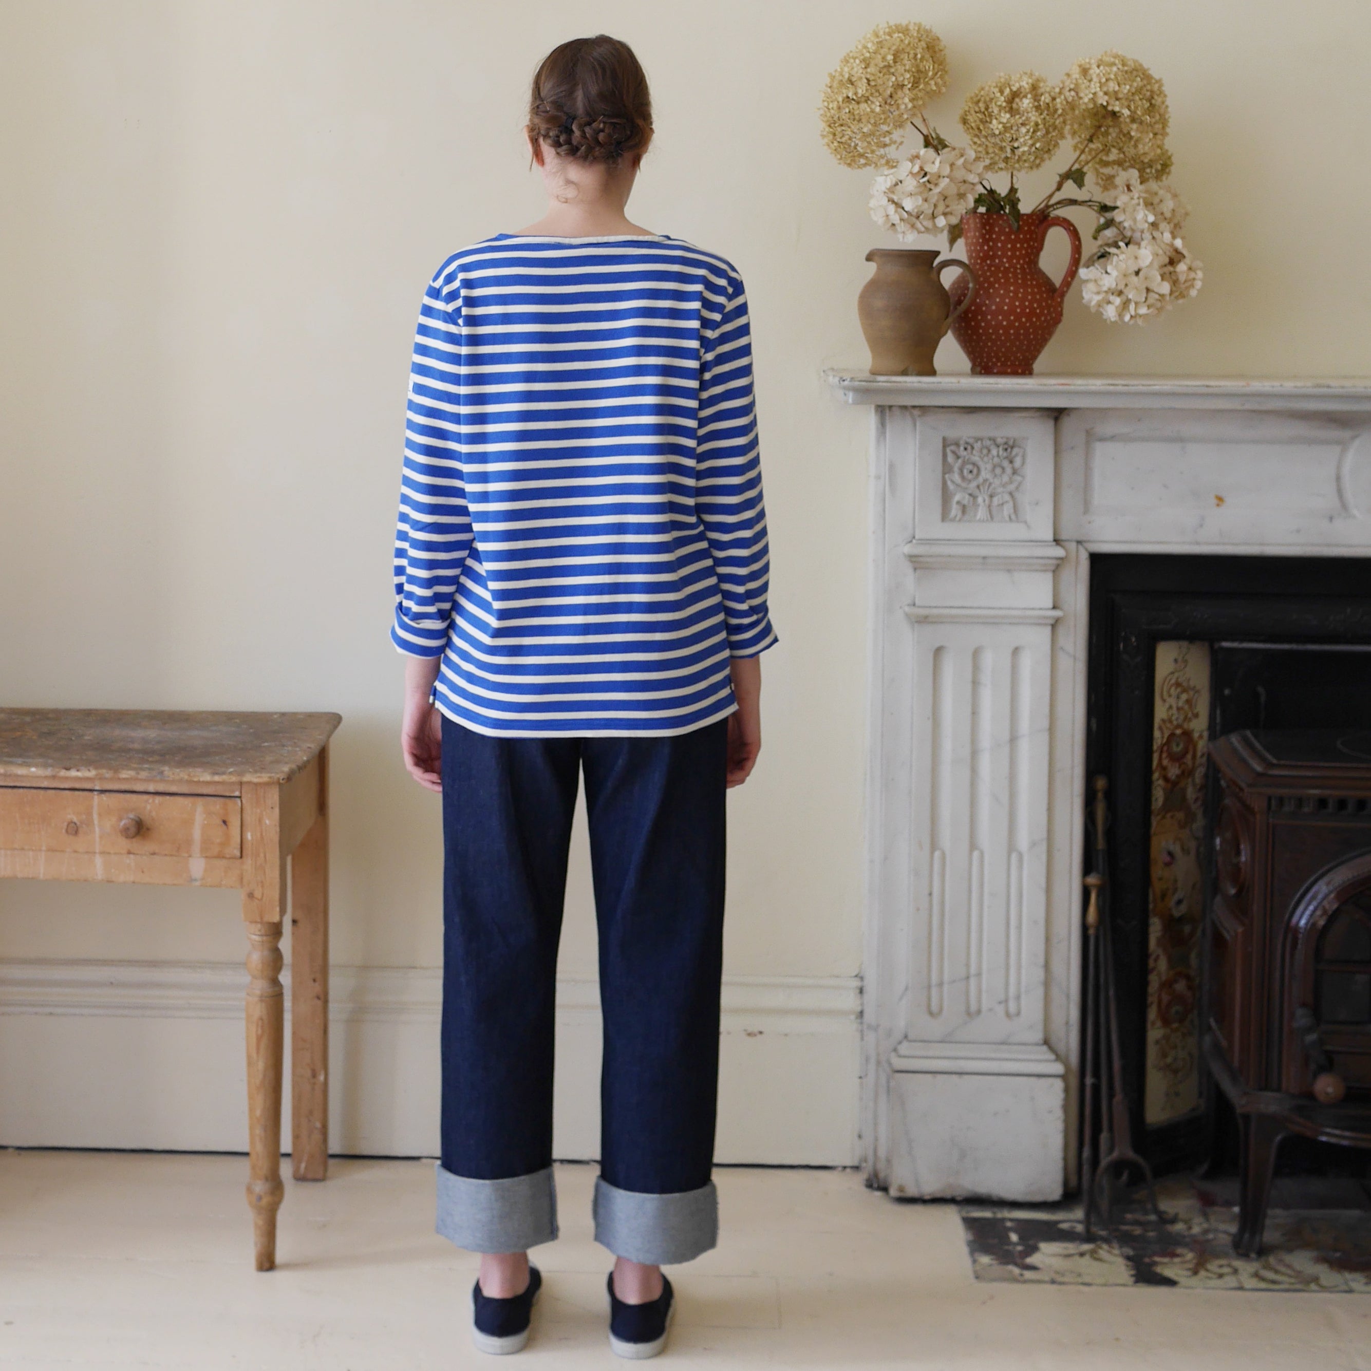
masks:
[[[1209,644],[1157,643],[1154,680],[1145,1093],[1152,1127],[1200,1105],[1197,986]]]

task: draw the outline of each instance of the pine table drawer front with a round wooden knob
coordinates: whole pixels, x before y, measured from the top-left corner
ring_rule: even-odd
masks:
[[[0,847],[19,851],[241,857],[233,795],[0,787]]]

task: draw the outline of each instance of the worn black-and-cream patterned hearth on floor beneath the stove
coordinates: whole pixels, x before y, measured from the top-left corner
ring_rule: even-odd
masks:
[[[1158,1182],[1157,1198],[1164,1224],[1134,1193],[1094,1239],[1079,1198],[958,1212],[978,1281],[1371,1294],[1371,1197],[1359,1182],[1291,1178],[1282,1190],[1278,1180],[1260,1257],[1234,1254],[1234,1183],[1174,1176]]]

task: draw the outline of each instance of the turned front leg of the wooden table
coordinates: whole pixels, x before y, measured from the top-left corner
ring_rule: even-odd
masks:
[[[281,1185],[281,924],[248,924],[248,1205],[258,1271],[276,1265]]]

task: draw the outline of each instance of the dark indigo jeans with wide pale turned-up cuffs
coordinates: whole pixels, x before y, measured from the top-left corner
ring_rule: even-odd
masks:
[[[727,729],[488,738],[444,717],[437,1230],[458,1246],[557,1237],[557,946],[581,772],[605,1026],[595,1237],[647,1263],[714,1246]]]

